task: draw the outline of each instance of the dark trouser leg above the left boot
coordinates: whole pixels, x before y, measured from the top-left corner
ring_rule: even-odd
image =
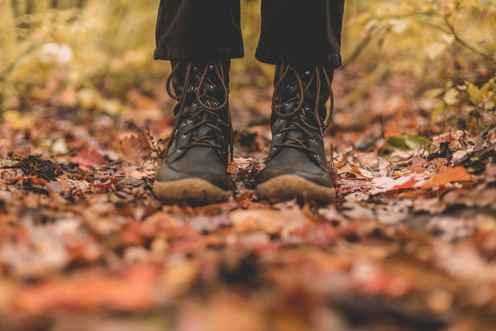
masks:
[[[161,0],[155,36],[155,60],[242,58],[240,1]]]

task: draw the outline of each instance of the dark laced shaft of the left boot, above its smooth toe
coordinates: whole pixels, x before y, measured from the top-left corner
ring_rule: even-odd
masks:
[[[167,91],[177,104],[166,158],[173,154],[182,156],[187,149],[200,146],[213,148],[227,158],[228,146],[232,146],[228,103],[230,60],[171,65]]]

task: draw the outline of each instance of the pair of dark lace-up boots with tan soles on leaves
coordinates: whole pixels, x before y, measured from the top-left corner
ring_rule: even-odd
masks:
[[[176,62],[167,92],[178,101],[174,128],[153,193],[166,202],[222,202],[232,195],[227,178],[233,128],[229,113],[230,60]],[[324,153],[331,112],[333,68],[276,64],[272,142],[257,187],[270,202],[314,199],[329,203],[335,190]],[[170,89],[170,85],[174,93]]]

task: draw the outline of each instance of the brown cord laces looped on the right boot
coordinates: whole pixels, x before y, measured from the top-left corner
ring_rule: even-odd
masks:
[[[322,72],[321,72],[322,71]],[[288,84],[288,88],[292,89],[294,88],[293,86],[296,84],[296,87],[298,88],[297,93],[294,97],[285,100],[283,103],[282,100],[282,86],[283,84],[287,84],[286,77],[288,74],[292,72],[295,76],[295,80],[290,82]],[[322,77],[323,76],[323,77]],[[322,86],[322,79],[324,80],[324,84],[326,84],[328,90],[329,90],[329,95],[330,95],[330,100],[331,100],[331,106],[330,110],[326,116],[325,119],[322,119],[319,115],[318,108],[319,108],[319,98],[321,95],[321,86]],[[307,95],[310,95],[310,85],[315,81],[315,88],[316,88],[316,93],[315,93],[315,106],[312,112],[310,112],[310,107],[308,104],[305,102],[305,97]],[[291,102],[297,101],[293,104],[293,107],[290,112],[282,112],[281,110],[276,107],[276,105],[281,105],[282,106],[287,106]],[[283,107],[280,107],[282,109]],[[281,131],[278,132],[279,134],[282,134],[283,132],[291,131],[291,130],[301,130],[302,132],[305,132],[305,134],[308,137],[311,137],[310,131],[317,131],[320,133],[320,136],[324,136],[324,130],[329,126],[331,123],[331,117],[332,117],[332,111],[334,108],[334,99],[333,99],[333,94],[332,94],[332,88],[331,88],[331,80],[329,78],[329,75],[327,74],[327,71],[324,66],[319,66],[315,65],[314,68],[312,68],[309,71],[304,72],[303,74],[299,73],[298,70],[294,67],[291,66],[290,64],[283,63],[281,64],[281,69],[279,71],[279,77],[277,80],[277,83],[275,84],[274,87],[274,94],[272,96],[272,111],[281,118],[282,120],[287,120],[291,119],[289,122],[289,125],[282,129]],[[307,119],[307,114],[313,114],[314,116],[314,121],[310,121]],[[297,116],[297,117],[296,117]],[[313,125],[311,122],[315,123],[316,125]],[[293,126],[291,126],[293,125]],[[274,147],[292,147],[292,148],[297,148],[303,151],[308,151],[310,153],[313,153],[313,150],[307,146],[307,139],[298,139],[295,138],[291,135],[287,135],[286,139],[288,141],[282,142],[275,144]]]

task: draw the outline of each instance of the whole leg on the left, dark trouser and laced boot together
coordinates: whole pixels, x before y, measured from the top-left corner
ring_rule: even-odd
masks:
[[[156,36],[155,59],[171,61],[168,93],[178,103],[153,193],[166,202],[224,201],[232,194],[229,68],[243,56],[240,3],[162,0]]]

